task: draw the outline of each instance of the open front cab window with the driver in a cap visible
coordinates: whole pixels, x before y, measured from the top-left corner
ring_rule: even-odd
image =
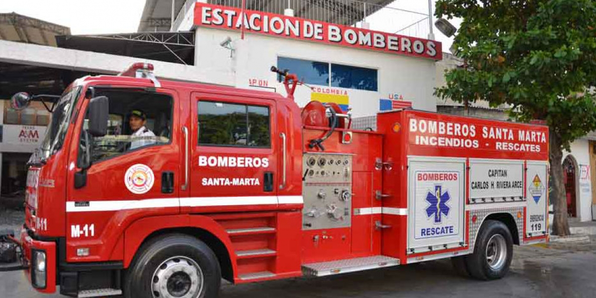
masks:
[[[170,143],[173,100],[169,95],[97,88],[98,96],[108,97],[110,116],[107,134],[91,139],[91,162]],[[87,121],[83,129],[87,129]],[[82,155],[79,150],[79,157]]]

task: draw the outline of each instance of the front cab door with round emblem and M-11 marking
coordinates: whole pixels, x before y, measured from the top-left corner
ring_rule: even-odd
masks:
[[[71,261],[122,259],[126,226],[142,217],[179,212],[181,131],[174,113],[179,110],[176,92],[96,88],[95,93],[108,97],[110,120],[108,134],[92,139],[91,167],[80,169],[90,101],[85,98],[68,168],[66,249]],[[144,109],[146,127],[156,134],[143,147],[131,148],[132,138],[124,132],[126,113],[132,108]]]

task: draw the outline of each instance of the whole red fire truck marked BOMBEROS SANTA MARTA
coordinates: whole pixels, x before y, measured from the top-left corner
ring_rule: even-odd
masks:
[[[2,269],[73,297],[215,297],[221,278],[447,257],[493,280],[513,244],[548,240],[546,126],[411,109],[352,119],[299,108],[300,82],[277,69],[287,97],[152,70],[83,77],[55,101]]]

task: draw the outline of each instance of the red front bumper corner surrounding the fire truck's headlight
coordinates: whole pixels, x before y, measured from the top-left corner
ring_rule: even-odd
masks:
[[[21,230],[21,249],[23,261],[27,264],[25,275],[35,290],[41,293],[54,293],[56,291],[56,243],[51,241],[34,240],[27,234],[26,229]],[[36,280],[35,263],[33,255],[35,252],[45,253],[45,281]],[[39,275],[38,275],[39,276]]]

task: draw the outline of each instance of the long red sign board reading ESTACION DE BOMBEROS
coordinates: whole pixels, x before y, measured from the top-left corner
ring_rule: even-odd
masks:
[[[244,10],[243,12],[240,8],[235,7],[197,2],[194,11],[194,24],[433,60],[442,59],[442,45],[437,41],[263,11]]]

